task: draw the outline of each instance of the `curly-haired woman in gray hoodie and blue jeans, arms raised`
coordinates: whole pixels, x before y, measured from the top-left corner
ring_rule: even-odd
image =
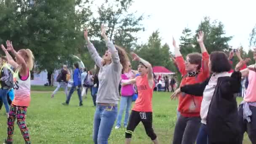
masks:
[[[118,46],[108,40],[105,27],[101,25],[101,35],[104,37],[108,50],[101,58],[88,39],[88,31],[84,30],[88,51],[99,70],[99,89],[97,93],[97,107],[93,121],[93,141],[95,144],[107,144],[112,127],[117,117],[117,104],[120,99],[118,86],[121,80],[122,65],[125,66],[128,56]]]

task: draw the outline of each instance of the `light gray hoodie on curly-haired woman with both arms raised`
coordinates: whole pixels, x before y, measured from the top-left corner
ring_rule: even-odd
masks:
[[[96,103],[118,104],[120,99],[118,86],[121,80],[122,65],[115,45],[110,40],[106,41],[106,44],[111,53],[112,63],[104,66],[102,66],[102,58],[99,56],[93,44],[88,43],[87,45],[93,61],[100,68]]]

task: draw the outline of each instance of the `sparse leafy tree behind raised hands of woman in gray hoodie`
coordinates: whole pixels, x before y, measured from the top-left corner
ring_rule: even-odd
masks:
[[[92,35],[101,37],[99,29],[102,23],[107,27],[107,35],[110,40],[115,40],[115,44],[130,51],[135,48],[138,37],[136,33],[143,30],[140,23],[144,16],[135,16],[135,13],[128,13],[132,5],[132,0],[105,0],[105,3],[98,8],[99,17],[93,18]]]

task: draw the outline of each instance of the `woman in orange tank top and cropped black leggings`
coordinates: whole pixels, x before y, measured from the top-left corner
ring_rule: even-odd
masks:
[[[138,98],[131,111],[128,126],[125,131],[125,144],[131,143],[131,136],[136,126],[142,122],[147,135],[154,144],[158,144],[157,136],[152,128],[152,96],[155,87],[153,70],[151,64],[132,53],[133,60],[139,61],[138,71],[140,75],[125,84],[136,84]]]

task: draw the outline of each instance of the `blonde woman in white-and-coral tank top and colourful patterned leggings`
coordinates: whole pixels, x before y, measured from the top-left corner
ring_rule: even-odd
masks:
[[[21,49],[16,52],[13,49],[13,45],[10,41],[6,42],[7,50],[3,45],[1,48],[7,56],[8,63],[16,69],[13,74],[13,88],[15,92],[14,100],[10,107],[9,117],[7,121],[7,139],[5,139],[4,144],[13,143],[13,131],[14,123],[17,118],[17,124],[21,130],[21,134],[25,140],[25,144],[31,144],[29,139],[29,131],[25,123],[27,115],[27,107],[30,104],[30,72],[34,64],[34,56],[32,51],[29,49]],[[8,53],[10,51],[13,56],[15,56],[16,61],[14,61],[11,55]]]

